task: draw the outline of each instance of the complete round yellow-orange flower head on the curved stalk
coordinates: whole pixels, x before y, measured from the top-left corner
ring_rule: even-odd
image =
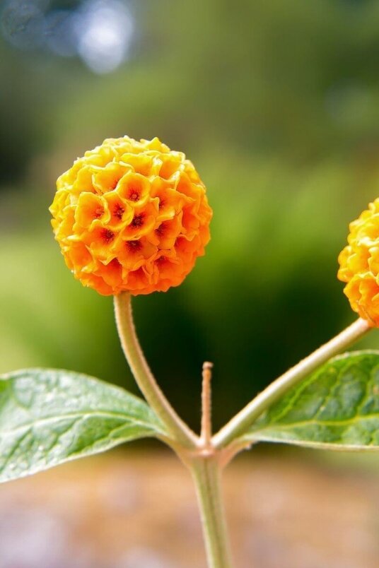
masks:
[[[158,138],[108,138],[57,180],[52,226],[67,266],[100,294],[179,285],[209,242],[192,162]]]

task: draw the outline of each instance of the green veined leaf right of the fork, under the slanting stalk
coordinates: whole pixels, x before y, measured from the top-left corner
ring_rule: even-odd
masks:
[[[379,352],[330,360],[274,403],[242,440],[378,450]]]

